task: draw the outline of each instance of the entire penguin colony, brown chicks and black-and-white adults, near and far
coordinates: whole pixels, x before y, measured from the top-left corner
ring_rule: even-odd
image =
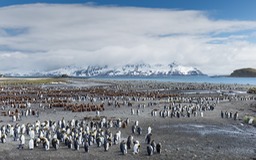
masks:
[[[211,87],[211,88],[210,88]],[[215,87],[215,88],[214,88]],[[151,89],[152,91],[144,88]],[[154,133],[150,126],[147,133],[143,133],[143,128],[139,126],[139,121],[130,124],[129,119],[107,119],[100,116],[106,107],[115,108],[130,107],[131,115],[140,116],[145,107],[153,107],[151,116],[162,118],[182,118],[182,117],[204,117],[204,112],[212,111],[216,105],[223,101],[246,101],[256,100],[256,97],[248,95],[230,95],[218,93],[207,96],[183,96],[172,92],[173,90],[204,90],[231,88],[228,85],[186,85],[175,86],[169,84],[153,85],[153,83],[121,83],[109,86],[97,86],[90,88],[81,87],[42,87],[42,86],[1,86],[1,116],[11,117],[11,124],[1,125],[0,138],[2,143],[7,143],[8,139],[19,141],[18,149],[36,149],[43,147],[47,150],[58,150],[63,147],[72,150],[90,152],[92,145],[104,148],[104,151],[111,149],[113,145],[120,146],[120,153],[123,155],[131,152],[139,154],[141,145],[146,145],[149,156],[162,152],[161,142],[155,142]],[[159,107],[160,101],[166,102]],[[144,102],[144,103],[139,103]],[[147,103],[146,103],[147,102]],[[135,106],[137,105],[137,106]],[[34,106],[38,106],[35,108]],[[64,118],[58,121],[39,120],[27,124],[22,122],[22,118],[28,116],[40,116],[40,112],[45,109],[63,109],[72,112],[95,111],[97,120],[66,121]],[[222,118],[238,119],[238,112],[233,115],[231,112],[221,112]],[[123,137],[122,128],[129,127],[131,134]],[[118,131],[112,133],[112,129]],[[133,135],[145,135],[145,142],[139,142]]]

